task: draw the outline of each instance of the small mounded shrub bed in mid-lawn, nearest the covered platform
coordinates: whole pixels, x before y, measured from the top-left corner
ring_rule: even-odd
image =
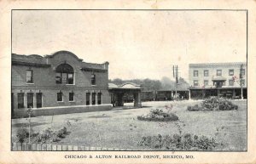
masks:
[[[138,120],[149,122],[174,122],[178,120],[177,115],[174,113],[167,113],[163,110],[150,110],[146,116],[137,116]]]

